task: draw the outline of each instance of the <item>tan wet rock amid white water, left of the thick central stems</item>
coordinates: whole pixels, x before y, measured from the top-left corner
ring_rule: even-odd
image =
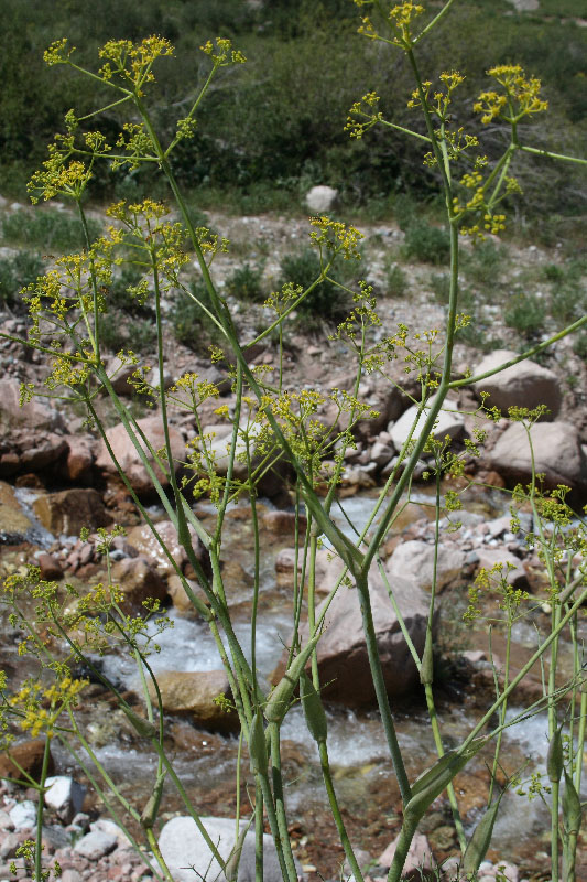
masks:
[[[232,731],[238,725],[235,713],[215,703],[230,691],[224,670],[164,670],[157,682],[163,708],[171,713],[189,714],[196,725],[210,731]]]

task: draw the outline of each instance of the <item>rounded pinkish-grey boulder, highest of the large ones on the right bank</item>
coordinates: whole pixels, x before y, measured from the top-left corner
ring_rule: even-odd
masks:
[[[518,353],[510,349],[497,349],[486,355],[476,366],[475,375],[485,374],[493,370],[499,365],[515,358]],[[509,407],[535,408],[539,405],[546,405],[548,413],[546,419],[554,419],[563,402],[563,391],[561,384],[554,372],[536,364],[535,362],[519,362],[512,367],[506,368],[500,374],[479,380],[474,384],[474,389],[479,392],[488,392],[489,407],[499,407],[507,411]]]

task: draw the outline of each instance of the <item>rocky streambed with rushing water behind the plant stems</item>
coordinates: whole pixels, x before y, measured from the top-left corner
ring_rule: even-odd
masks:
[[[188,367],[196,368],[202,377],[220,384],[222,402],[230,410],[233,406],[230,390],[227,384],[222,385],[217,368],[195,358],[189,365],[183,363],[178,367],[177,356],[174,357],[175,362],[171,356],[169,359],[169,364],[177,368],[172,380]],[[258,364],[269,364],[274,357],[270,347],[256,355]],[[509,354],[501,353],[499,357],[503,361]],[[319,352],[311,354],[309,361],[300,358],[298,369],[292,368],[292,386],[312,381],[322,384],[320,388],[325,391],[328,388],[347,388],[351,378],[345,375],[340,365],[333,369],[328,383],[324,376],[316,379],[315,375],[324,374],[318,361]],[[476,367],[475,373],[488,369],[482,359]],[[113,365],[112,369],[117,372],[118,391],[127,395],[130,391],[130,387],[124,386],[128,377],[124,377],[120,365]],[[31,370],[33,378],[42,379],[42,364],[32,363]],[[546,401],[551,409],[550,421],[539,422],[532,429],[536,469],[545,474],[547,485],[555,486],[561,482],[568,484],[574,498],[579,503],[585,502],[585,421],[581,413],[573,413],[569,409],[556,373],[541,365],[520,365],[510,368],[499,380],[492,379],[489,386],[486,384],[485,389],[465,387],[452,398],[441,415],[436,430],[438,437],[448,434],[459,445],[467,434],[472,434],[476,418],[471,413],[478,407],[481,390],[490,391],[491,404],[504,410],[510,405],[534,406]],[[343,530],[350,529],[349,521],[359,530],[366,524],[378,487],[394,467],[398,450],[405,439],[405,427],[413,417],[410,399],[399,394],[394,386],[367,378],[359,394],[370,407],[377,408],[379,417],[359,423],[356,429],[357,447],[347,454],[340,506],[334,510]],[[106,562],[98,547],[96,530],[115,521],[126,527],[127,535],[113,541],[111,552],[112,580],[123,591],[123,607],[129,612],[138,612],[146,596],[154,596],[166,607],[173,623],[173,628],[157,637],[161,652],[151,657],[169,713],[166,745],[198,811],[233,817],[237,810],[233,775],[238,741],[230,731],[230,719],[213,701],[219,692],[227,690],[228,684],[207,628],[186,603],[180,580],[160,553],[149,529],[140,523],[130,497],[113,474],[104,443],[84,429],[81,418],[75,413],[65,415],[39,400],[20,408],[18,399],[18,379],[6,377],[0,380],[0,416],[4,426],[0,438],[2,576],[23,572],[26,566],[33,563],[40,567],[43,579],[56,580],[59,584],[67,581],[85,591],[88,585],[106,578]],[[130,408],[137,406],[131,398],[128,398],[128,404]],[[108,429],[109,441],[117,450],[127,475],[138,493],[148,494],[150,481],[145,470],[126,441],[122,427],[111,420],[106,406],[101,407],[105,417],[112,423]],[[220,417],[214,412],[217,407],[218,401],[214,400],[204,408],[202,417],[205,427],[218,437],[220,461],[221,444],[226,442]],[[327,404],[319,416],[324,420],[331,419]],[[150,443],[155,449],[160,448],[162,435],[159,416],[141,417],[140,426]],[[171,426],[172,447],[177,460],[181,460],[186,444],[195,437],[194,419],[172,405]],[[426,469],[427,463],[422,462],[420,477]],[[525,535],[534,526],[532,518],[528,512],[522,512],[520,529],[511,531],[508,496],[497,490],[508,484],[511,486],[529,474],[530,454],[525,439],[520,435],[517,424],[501,420],[492,427],[480,459],[466,462],[467,478],[475,477],[482,486],[464,492],[465,510],[458,513],[461,526],[454,529],[448,523],[443,525],[437,571],[439,620],[436,699],[445,747],[461,741],[488,707],[493,688],[486,627],[478,624],[475,630],[468,631],[463,624],[467,587],[479,568],[490,569],[498,562],[510,564],[508,580],[514,587],[533,593],[543,585],[542,564],[536,552],[525,544]],[[464,491],[464,486],[450,484],[452,488],[458,491]],[[446,488],[448,485],[443,492]],[[256,658],[259,676],[263,685],[269,686],[273,671],[282,663],[282,648],[289,645],[290,639],[295,552],[294,518],[285,487],[283,483],[270,482],[264,491],[271,498],[261,501],[259,505],[263,555]],[[434,529],[430,520],[430,502],[428,485],[425,482],[416,483],[382,548],[385,573],[398,587],[398,602],[411,636],[420,648],[433,572]],[[206,502],[196,506],[196,513],[205,525],[214,516]],[[156,506],[150,508],[150,514],[197,592],[195,573],[177,544],[171,523],[165,520],[163,510]],[[78,538],[83,527],[88,527],[90,531],[86,541]],[[227,517],[224,577],[235,628],[244,647],[250,647],[251,643],[251,547],[249,508],[244,504],[233,506]],[[339,562],[331,560],[328,549],[324,548],[318,556],[319,596],[327,593],[338,574]],[[406,754],[409,775],[413,778],[434,762],[436,754],[421,688],[404,650],[401,664],[398,663],[398,647],[401,644],[399,628],[396,620],[391,616],[384,587],[378,578],[373,573],[371,583],[373,598],[381,598],[381,603],[376,604],[376,626],[381,646],[385,652],[389,649],[390,658],[395,659],[389,666],[388,688],[396,707],[400,743]],[[496,610],[494,599],[483,602],[486,614]],[[324,671],[328,671],[324,681],[335,684],[333,693],[325,696],[330,702],[328,725],[334,777],[351,840],[362,849],[365,863],[372,863],[370,873],[377,878],[384,872],[389,853],[387,858],[383,854],[401,825],[399,790],[378,714],[372,709],[372,696],[366,692],[365,680],[361,679],[366,669],[365,646],[359,630],[355,631],[345,624],[358,621],[352,592],[341,592],[340,603],[337,600],[333,604],[328,621],[328,630],[320,644],[319,664]],[[548,628],[547,611],[540,604],[526,622],[515,627],[512,673],[519,670],[530,657],[535,646],[536,628],[543,634]],[[17,680],[24,678],[29,666],[26,657],[18,655],[21,635],[11,627],[4,614],[2,633],[2,667]],[[581,637],[583,634],[579,635]],[[493,632],[492,649],[493,662],[500,670],[504,659],[504,643],[499,631]],[[247,650],[250,655],[250,648]],[[563,646],[557,669],[561,684],[570,673],[569,658],[567,647]],[[119,655],[109,655],[100,664],[142,712],[137,669]],[[517,709],[532,703],[541,695],[540,671],[535,671],[513,696],[509,713],[514,716]],[[144,805],[152,786],[155,760],[145,753],[144,742],[113,706],[99,681],[91,682],[84,692],[78,717],[88,743],[122,793],[129,799],[137,799],[139,805]],[[528,764],[524,774],[540,771],[545,756],[546,731],[544,716],[532,717],[506,731],[503,764],[507,774],[512,774],[524,764]],[[246,760],[246,751],[243,757]],[[297,708],[292,709],[284,724],[283,757],[286,799],[292,819],[291,836],[300,865],[305,868],[304,872],[308,875],[319,871],[326,879],[338,878],[343,853],[329,820],[316,751],[308,741]],[[481,753],[457,778],[456,789],[467,831],[474,828],[482,813],[489,781],[487,763],[490,762],[490,753]],[[72,775],[87,787],[81,813],[87,815],[87,819],[78,818],[75,821],[75,818],[66,817],[67,813],[62,813],[62,817],[58,813],[50,815],[51,824],[59,833],[54,832],[53,842],[47,833],[47,854],[52,853],[51,849],[54,853],[66,850],[67,853],[63,852],[61,859],[70,873],[68,882],[77,882],[78,878],[94,879],[95,882],[104,879],[131,879],[137,882],[142,874],[149,873],[144,865],[128,857],[129,852],[118,840],[106,847],[98,857],[98,852],[93,852],[91,858],[76,850],[74,840],[79,838],[83,841],[89,824],[98,819],[101,809],[90,782],[58,745],[54,750],[54,764],[56,773]],[[248,767],[247,762],[244,765]],[[248,783],[244,774],[240,793],[243,815],[250,811]],[[23,794],[7,785],[0,795],[10,815],[15,805],[21,805],[33,794]],[[167,784],[164,799],[163,821],[170,820],[175,813],[184,811],[181,800]],[[77,829],[67,829],[72,825]],[[28,829],[25,826],[18,827],[13,820],[2,819],[0,815],[0,838],[4,843],[8,841],[8,845],[0,845],[2,859],[15,851],[17,839],[10,837],[21,836],[19,830]],[[529,804],[524,797],[508,794],[488,856],[493,863],[485,868],[486,876],[494,878],[494,862],[506,859],[513,865],[508,871],[511,882],[521,878],[536,881],[546,879],[547,831],[547,813],[539,799]],[[423,824],[422,832],[427,839],[424,851],[426,848],[432,850],[436,861],[455,853],[455,833],[444,797],[436,800]],[[116,838],[117,831],[110,829],[110,836]],[[583,840],[581,848],[585,848]],[[585,850],[580,853],[585,863]],[[22,876],[25,872],[22,868],[18,874]]]

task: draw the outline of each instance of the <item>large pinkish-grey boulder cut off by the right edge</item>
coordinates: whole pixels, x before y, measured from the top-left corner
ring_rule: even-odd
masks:
[[[536,472],[545,485],[565,484],[572,491],[587,485],[587,462],[577,428],[570,422],[539,422],[530,430]],[[530,444],[524,427],[509,426],[489,452],[490,467],[510,481],[528,482],[532,475]]]

